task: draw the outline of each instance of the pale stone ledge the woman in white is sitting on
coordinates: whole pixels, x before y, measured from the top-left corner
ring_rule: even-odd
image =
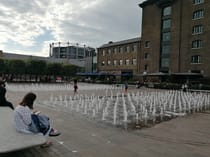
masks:
[[[0,153],[18,151],[46,142],[42,135],[17,132],[13,124],[13,111],[9,107],[0,107],[0,124]]]

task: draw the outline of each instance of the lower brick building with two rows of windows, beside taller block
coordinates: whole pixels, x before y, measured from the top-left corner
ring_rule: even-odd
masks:
[[[138,73],[140,38],[109,42],[98,48],[98,72],[133,77]]]

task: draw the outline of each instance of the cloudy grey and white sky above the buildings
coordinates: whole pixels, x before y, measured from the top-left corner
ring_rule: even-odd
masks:
[[[53,42],[98,48],[140,37],[144,0],[0,0],[0,50],[49,56]]]

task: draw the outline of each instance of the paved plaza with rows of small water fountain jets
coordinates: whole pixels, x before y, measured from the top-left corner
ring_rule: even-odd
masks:
[[[209,156],[209,94],[123,85],[7,84],[16,106],[27,92],[61,135],[48,148],[0,156],[153,157]],[[206,91],[207,92],[207,91]]]

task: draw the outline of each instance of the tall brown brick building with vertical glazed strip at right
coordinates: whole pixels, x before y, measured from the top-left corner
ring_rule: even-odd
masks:
[[[139,6],[139,72],[210,77],[210,1],[147,0]]]

